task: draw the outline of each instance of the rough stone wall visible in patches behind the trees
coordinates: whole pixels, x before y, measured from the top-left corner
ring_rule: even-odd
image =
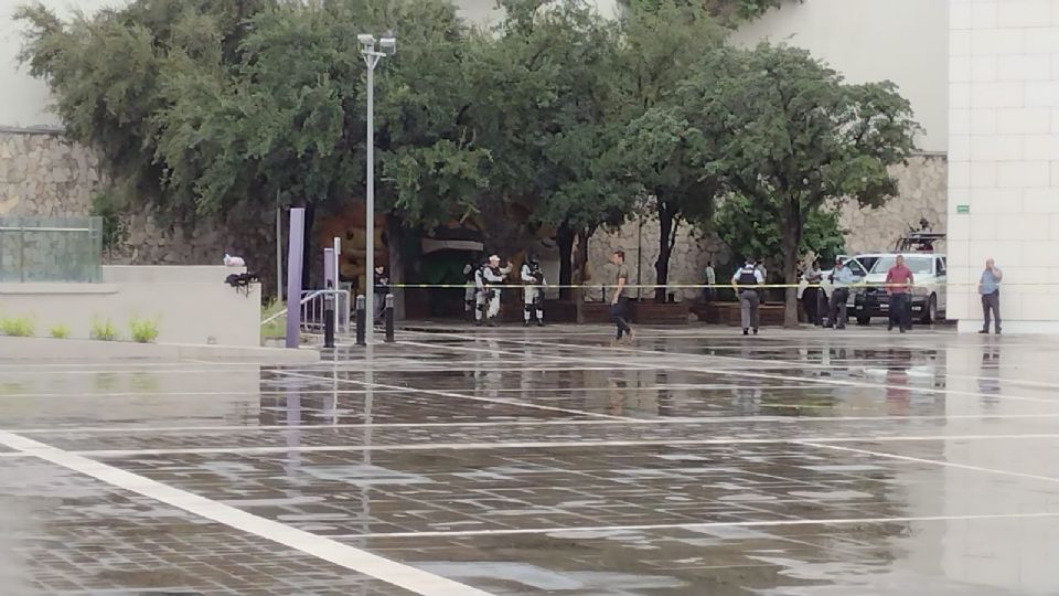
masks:
[[[847,249],[888,251],[909,225],[918,225],[922,217],[933,230],[945,230],[946,170],[944,156],[913,157],[907,166],[895,169],[900,196],[877,210],[845,205],[842,225],[848,231]],[[61,134],[0,129],[0,215],[86,215],[93,193],[104,182],[92,151],[67,142]],[[263,210],[225,223],[200,221],[183,230],[161,225],[146,210],[138,210],[126,214],[127,234],[104,259],[111,264],[211,265],[229,252],[250,257],[247,263],[252,268],[271,272],[274,217],[271,210]],[[716,235],[700,234],[687,224],[681,225],[677,234],[670,263],[671,284],[702,284],[710,260],[718,267],[718,279],[730,275],[730,251]],[[632,281],[652,284],[659,235],[659,224],[651,219],[630,221],[617,231],[597,232],[589,242],[591,277],[587,283],[609,279],[612,274],[605,264],[612,251],[621,248]],[[694,289],[673,291],[678,299],[700,294]]]

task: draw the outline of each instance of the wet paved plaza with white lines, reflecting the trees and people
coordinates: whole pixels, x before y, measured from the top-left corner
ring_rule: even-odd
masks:
[[[1059,339],[398,340],[0,354],[2,593],[1059,593]]]

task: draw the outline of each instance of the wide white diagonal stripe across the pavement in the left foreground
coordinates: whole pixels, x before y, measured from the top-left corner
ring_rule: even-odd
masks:
[[[0,432],[0,444],[110,486],[142,494],[228,528],[270,540],[416,594],[425,596],[490,596],[488,592],[410,565],[391,561],[333,539],[254,515],[218,501],[12,433]]]

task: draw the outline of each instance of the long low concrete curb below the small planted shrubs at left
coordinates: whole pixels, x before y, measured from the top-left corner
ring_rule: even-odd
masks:
[[[320,361],[320,352],[312,349],[286,350],[235,345],[131,343],[0,337],[0,362],[99,360],[147,360],[165,362],[202,360],[207,362],[247,362],[256,364],[313,364]]]

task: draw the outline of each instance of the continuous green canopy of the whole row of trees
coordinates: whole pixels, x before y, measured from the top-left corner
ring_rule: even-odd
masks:
[[[917,126],[892,84],[846,84],[782,45],[724,44],[726,26],[782,1],[643,0],[607,20],[586,0],[503,0],[492,31],[447,0],[132,0],[18,19],[69,136],[99,151],[116,195],[171,219],[362,196],[356,35],[392,31],[398,52],[376,70],[383,212],[427,228],[478,214],[496,244],[546,226],[568,283],[575,237],[641,210],[662,227],[664,286],[681,225],[719,224],[741,251],[752,220],[751,246],[782,255],[793,283],[836,204],[896,193],[888,168]]]

